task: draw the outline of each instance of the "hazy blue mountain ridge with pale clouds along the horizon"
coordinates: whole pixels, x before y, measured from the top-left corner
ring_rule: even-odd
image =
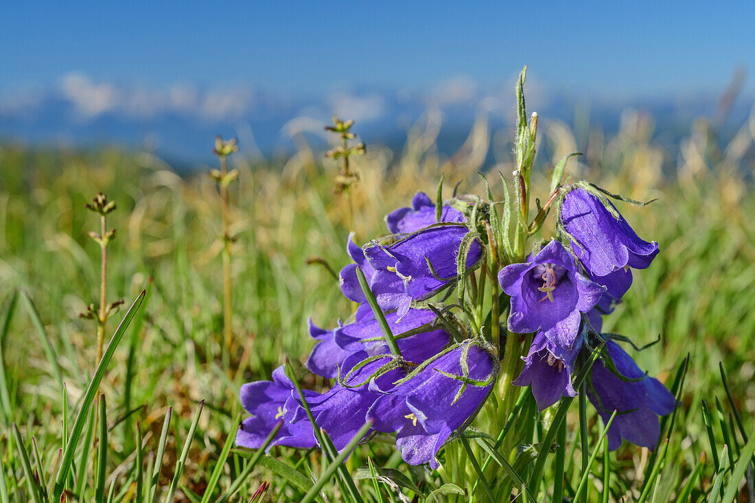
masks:
[[[713,93],[595,97],[537,82],[527,91],[529,110],[537,110],[544,120],[572,125],[581,114],[610,133],[618,128],[621,111],[633,108],[654,117],[657,134],[672,136],[687,134],[697,116],[713,116],[719,100]],[[735,100],[730,122],[741,124],[752,103],[751,97]],[[294,131],[325,147],[322,126],[334,113],[354,119],[365,143],[400,148],[408,128],[427,110],[441,118],[443,153],[453,153],[479,113],[487,114],[492,131],[513,124],[513,83],[483,88],[458,78],[428,91],[362,87],[324,96],[292,96],[239,85],[119,85],[69,74],[58,85],[2,91],[0,141],[74,147],[115,143],[154,151],[171,162],[196,164],[211,161],[215,134],[238,136],[242,148],[263,156],[290,151]]]

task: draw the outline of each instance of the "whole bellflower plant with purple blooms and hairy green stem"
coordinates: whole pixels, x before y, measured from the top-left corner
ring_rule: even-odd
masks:
[[[514,492],[534,501],[538,481],[527,488],[526,471],[513,477],[501,459],[521,468],[556,449],[536,446],[546,431],[541,423],[535,437],[535,421],[541,421],[533,419],[535,408],[568,407],[579,397],[584,445],[589,399],[608,425],[610,449],[622,439],[655,447],[658,416],[676,403],[614,341],[626,338],[602,333],[602,316],[629,289],[630,268],[649,267],[658,244],[639,239],[607,199],[624,200],[620,196],[586,182],[562,184],[569,156],[553,170],[544,205],[535,199],[529,221],[538,116],[528,123],[524,75],[516,89],[513,196],[496,202],[488,187],[488,202],[472,194],[444,200],[441,182],[436,201],[417,193],[411,205],[390,212],[387,235],[362,246],[350,235],[353,263],[338,279],[357,308],[332,329],[310,320],[316,344],[307,368],[332,379],[329,389],[294,389],[282,368],[273,381],[245,384],[241,398],[251,417],[236,443],[257,449],[277,431],[270,445],[329,452],[325,437],[340,450],[377,434],[395,435],[406,463],[426,465],[428,480],[470,488],[470,501],[482,494],[508,501]],[[344,134],[348,127],[336,120],[331,131]],[[556,234],[541,236],[551,211]],[[599,355],[596,347],[606,350]],[[531,388],[535,406],[519,400],[521,387]],[[482,461],[493,451],[498,464],[492,457]],[[539,477],[542,468],[537,471]]]

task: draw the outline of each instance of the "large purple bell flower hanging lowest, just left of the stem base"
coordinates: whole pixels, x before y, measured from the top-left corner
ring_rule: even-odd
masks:
[[[462,369],[463,360],[468,372]],[[479,341],[467,339],[418,367],[414,375],[394,387],[381,389],[380,383],[372,384],[371,389],[384,394],[375,400],[367,417],[374,421],[374,430],[396,433],[396,446],[404,461],[430,463],[435,469],[443,443],[474,418],[497,373],[497,359]],[[459,378],[479,385],[465,384]]]

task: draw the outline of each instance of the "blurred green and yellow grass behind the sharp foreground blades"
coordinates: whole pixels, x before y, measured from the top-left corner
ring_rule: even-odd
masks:
[[[745,428],[753,426],[755,116],[733,129],[729,125],[733,132],[721,135],[724,122],[698,118],[670,148],[658,139],[654,119],[632,110],[622,113],[613,134],[584,124],[575,134],[574,125],[541,117],[533,174],[541,200],[547,198],[553,159],[577,150],[584,155],[567,166],[572,181],[587,178],[634,199],[658,198],[647,208],[620,208],[640,236],[660,243],[661,254],[652,267],[635,274],[633,289],[606,318],[605,329],[638,345],[660,336],[636,359],[667,383],[683,357],[691,356],[680,433],[669,454],[673,462],[661,479],[661,490],[669,494],[701,452],[710,451],[700,401],[710,405],[716,396],[724,401],[720,362]],[[358,123],[353,130],[359,132]],[[461,193],[482,193],[477,173],[483,172],[493,194],[502,197],[498,171],[507,177],[513,171],[507,160],[512,145],[504,140],[513,131],[493,131],[479,116],[452,156],[439,153],[438,132],[439,119],[426,114],[401,149],[368,145],[365,156],[353,160],[360,177],[350,191],[357,242],[387,232],[383,215],[408,205],[417,190],[434,193],[441,174],[445,187],[459,184]],[[116,434],[109,438],[114,453],[109,474],[126,474],[133,463],[131,421],[138,419],[149,432],[150,445],[159,437],[168,406],[179,418],[176,433],[185,434],[197,403],[206,400],[186,467],[186,486],[201,493],[208,477],[205,464],[217,458],[239,409],[239,385],[269,378],[285,356],[304,362],[313,344],[308,316],[318,325],[334,326],[339,316],[351,313],[327,268],[307,264],[321,258],[338,270],[349,260],[347,202],[334,193],[338,167],[310,147],[304,135],[293,140],[296,149],[285,159],[230,158],[239,170],[239,182],[230,187],[231,231],[238,236],[232,261],[236,347],[230,369],[220,362],[220,197],[206,174],[209,166],[177,172],[151,153],[108,147],[0,147],[0,300],[18,288],[29,292],[57,352],[70,403],[82,396],[96,357],[94,326],[79,319],[99,295],[100,251],[87,236],[99,224],[85,209],[95,193],[106,193],[118,205],[109,215],[117,236],[109,248],[108,299],[125,298],[128,305],[149,285],[143,324],[127,336],[100,387],[112,397],[111,418],[124,418],[143,405],[122,423],[116,421]],[[494,151],[496,160],[490,162]],[[120,316],[110,320],[108,334]],[[51,465],[60,437],[61,397],[39,328],[17,309],[2,344],[14,419],[27,434],[36,432],[45,446],[44,462]],[[127,375],[133,381],[125,393]],[[315,379],[305,382],[322,385]],[[386,457],[392,452],[390,445],[377,449]],[[355,458],[350,462],[359,466],[363,458]],[[620,489],[631,499],[646,451],[626,448],[618,463],[624,480]],[[268,476],[263,468],[257,470],[255,480]],[[712,474],[712,468],[704,471],[700,488]],[[278,497],[285,501],[285,495]]]

